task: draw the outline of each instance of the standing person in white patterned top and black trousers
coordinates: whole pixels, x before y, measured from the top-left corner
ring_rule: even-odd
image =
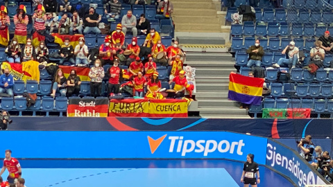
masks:
[[[101,66],[101,60],[96,59],[94,66],[89,71],[90,94],[92,97],[101,96],[102,81],[104,78],[104,69]]]

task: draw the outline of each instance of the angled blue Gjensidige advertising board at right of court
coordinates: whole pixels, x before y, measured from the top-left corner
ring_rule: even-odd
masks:
[[[298,152],[271,139],[267,141],[266,166],[289,177],[298,186],[328,184]]]

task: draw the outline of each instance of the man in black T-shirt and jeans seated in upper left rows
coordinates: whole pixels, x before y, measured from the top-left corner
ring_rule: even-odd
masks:
[[[102,15],[98,15],[93,7],[89,8],[89,14],[85,15],[85,30],[83,34],[94,33],[100,35],[101,30],[97,27],[99,22],[102,20]]]

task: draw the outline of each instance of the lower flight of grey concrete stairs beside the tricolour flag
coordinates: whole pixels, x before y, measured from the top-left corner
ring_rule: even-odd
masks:
[[[250,118],[239,103],[228,100],[229,74],[234,69],[230,53],[187,52],[189,66],[196,68],[196,100],[200,116],[209,118]]]

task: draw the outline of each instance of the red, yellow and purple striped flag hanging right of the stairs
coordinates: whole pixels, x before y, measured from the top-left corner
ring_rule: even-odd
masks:
[[[230,100],[237,100],[249,105],[260,105],[264,79],[230,73],[229,81],[228,98]]]

